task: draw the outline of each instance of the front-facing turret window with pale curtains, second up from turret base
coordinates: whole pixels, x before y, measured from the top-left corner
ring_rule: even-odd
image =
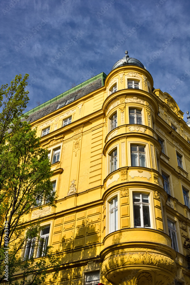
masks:
[[[145,146],[131,145],[131,166],[146,167]]]

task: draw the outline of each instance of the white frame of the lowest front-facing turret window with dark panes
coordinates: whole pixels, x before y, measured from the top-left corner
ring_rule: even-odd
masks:
[[[140,202],[134,202],[134,201],[133,201],[133,195],[137,195],[137,194],[140,194]],[[147,196],[148,196],[148,203],[142,202],[142,195],[147,195]],[[151,209],[150,209],[150,194],[149,194],[149,193],[145,193],[145,192],[136,192],[136,191],[133,191],[133,192],[132,192],[132,201],[133,201],[133,225],[134,225],[134,227],[135,227],[135,228],[147,228],[147,229],[152,228]],[[141,223],[141,226],[135,226],[135,223],[134,223],[134,205],[139,205],[139,206],[140,206],[140,223]],[[148,209],[149,209],[150,227],[146,227],[146,226],[144,225],[143,205],[144,205],[144,206],[148,206]],[[142,224],[143,224],[143,225],[142,225]]]

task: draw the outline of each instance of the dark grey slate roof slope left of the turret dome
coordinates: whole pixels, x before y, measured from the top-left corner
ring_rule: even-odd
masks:
[[[69,95],[66,95],[64,96],[63,98],[57,100],[56,102],[53,102],[51,103],[50,105],[32,113],[31,115],[28,116],[28,120],[30,120],[30,123],[52,113],[53,111],[55,111],[58,107],[59,104],[61,104],[62,102],[64,101],[67,101],[68,99],[72,98],[72,97],[75,97],[74,101],[101,88],[103,85],[102,85],[102,80],[101,78],[95,80],[94,82],[84,86],[84,87],[81,87],[80,89],[70,93]],[[73,102],[74,102],[73,101]],[[69,104],[68,104],[69,106]]]

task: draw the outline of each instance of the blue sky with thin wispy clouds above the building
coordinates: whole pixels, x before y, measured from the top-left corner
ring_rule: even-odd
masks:
[[[109,74],[127,49],[190,111],[189,12],[185,0],[1,0],[1,84],[28,73],[28,111]]]

